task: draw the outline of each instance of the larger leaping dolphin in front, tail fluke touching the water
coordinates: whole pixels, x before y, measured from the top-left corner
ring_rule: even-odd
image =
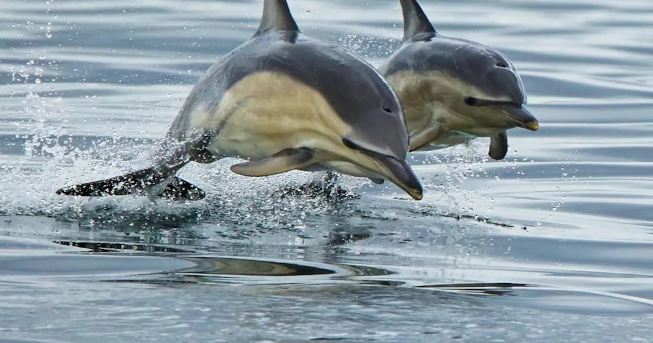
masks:
[[[285,0],[264,0],[259,29],[199,79],[150,167],[56,193],[203,199],[176,173],[191,161],[239,157],[247,161],[231,171],[245,176],[338,171],[389,180],[421,200],[408,146],[399,99],[377,69],[304,35]]]

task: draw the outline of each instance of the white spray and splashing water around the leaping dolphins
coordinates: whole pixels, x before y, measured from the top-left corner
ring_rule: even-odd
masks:
[[[52,29],[44,26],[46,33]],[[50,37],[46,37],[50,38]],[[362,39],[357,35],[343,37],[341,43],[368,59],[387,56],[394,48],[392,41],[385,39]],[[45,54],[45,52],[43,52]],[[43,59],[44,61],[46,59]],[[35,60],[39,61],[39,60]],[[24,79],[39,74],[56,74],[57,63],[39,63],[40,71],[22,71]],[[86,79],[85,74],[78,77]],[[30,79],[32,80],[32,79]],[[0,171],[0,182],[7,184],[2,189],[0,214],[8,216],[48,216],[59,220],[80,223],[81,227],[123,227],[135,226],[170,227],[220,223],[225,227],[239,227],[240,233],[287,229],[301,232],[315,225],[321,216],[343,211],[340,216],[360,216],[360,211],[345,204],[334,204],[328,200],[310,197],[280,197],[283,189],[310,182],[315,174],[290,172],[266,178],[245,178],[229,172],[233,163],[225,159],[211,165],[189,165],[180,176],[197,184],[208,193],[207,199],[198,203],[167,203],[137,197],[112,197],[102,199],[61,197],[54,190],[69,184],[98,180],[123,174],[148,165],[153,140],[125,139],[116,133],[107,137],[64,136],[67,121],[65,108],[60,99],[50,92],[36,91],[48,86],[48,82],[25,83],[27,94],[24,110],[27,120],[22,123],[24,155],[18,157]],[[40,88],[39,88],[40,87]],[[88,95],[89,102],[95,95]],[[133,125],[147,127],[146,120]],[[115,132],[115,131],[114,131]],[[81,142],[87,140],[86,142]],[[432,194],[423,203],[409,203],[406,207],[438,208],[438,215],[446,214],[458,218],[480,218],[485,198],[475,195],[476,190],[467,191],[462,186],[470,178],[487,177],[483,166],[487,162],[485,152],[481,154],[482,142],[471,142],[468,146],[456,146],[445,152],[428,154],[422,161],[429,168],[441,170],[436,176],[425,176],[424,187]],[[415,164],[420,158],[412,158]],[[430,172],[424,175],[430,175]],[[341,183],[363,195],[384,197],[401,193],[392,185],[370,186],[361,178],[341,178]],[[489,188],[489,184],[486,184]],[[488,192],[489,193],[489,192]],[[20,194],[20,197],[11,196]],[[403,204],[402,204],[403,206]],[[490,204],[490,210],[492,205]],[[401,218],[403,212],[388,208],[372,210],[373,217]],[[488,210],[489,212],[489,210]],[[225,230],[228,231],[228,230]],[[460,228],[452,231],[460,238],[465,234]]]

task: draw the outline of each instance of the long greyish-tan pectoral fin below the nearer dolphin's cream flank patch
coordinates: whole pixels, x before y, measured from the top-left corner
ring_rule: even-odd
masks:
[[[280,152],[260,159],[231,166],[231,171],[244,176],[268,176],[295,169],[304,169],[313,163],[323,161],[326,152],[311,148],[287,148]]]

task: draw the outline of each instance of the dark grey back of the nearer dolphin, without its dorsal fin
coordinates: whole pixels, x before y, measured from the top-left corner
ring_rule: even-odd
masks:
[[[270,45],[270,41],[276,44]],[[362,138],[374,146],[389,145],[389,150],[404,157],[406,130],[387,128],[406,123],[396,94],[374,66],[336,44],[288,30],[262,33],[212,67],[191,91],[168,131],[168,139],[192,139],[188,125],[195,110],[213,112],[226,90],[246,76],[264,71],[285,74],[318,91],[359,136],[350,138]],[[379,98],[383,103],[379,103]],[[384,112],[384,106],[390,112]],[[378,110],[370,112],[372,108]],[[385,137],[379,132],[396,137]]]

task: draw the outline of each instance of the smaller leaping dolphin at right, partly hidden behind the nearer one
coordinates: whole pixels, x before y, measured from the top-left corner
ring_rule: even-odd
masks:
[[[507,57],[440,35],[416,0],[400,3],[404,37],[378,69],[401,101],[410,152],[490,137],[488,155],[500,160],[508,151],[508,129],[537,131],[522,80]]]

